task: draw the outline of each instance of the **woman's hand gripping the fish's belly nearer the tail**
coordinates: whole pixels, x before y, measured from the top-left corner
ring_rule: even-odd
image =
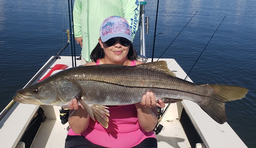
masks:
[[[164,108],[165,107],[165,104],[164,102],[159,99],[158,100],[158,103],[156,102],[156,98],[155,98],[155,95],[154,93],[152,92],[147,92],[143,97],[142,97],[142,100],[141,100],[141,103],[140,103],[142,106],[146,107],[146,108],[154,108],[156,106],[159,106],[161,108]]]

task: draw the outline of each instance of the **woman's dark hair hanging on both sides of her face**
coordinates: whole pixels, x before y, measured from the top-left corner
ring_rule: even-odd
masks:
[[[105,53],[103,48],[101,48],[100,43],[96,45],[96,47],[93,49],[92,53],[90,54],[90,59],[94,62],[97,62],[98,59],[102,59],[105,57]],[[129,52],[127,54],[127,57],[130,61],[137,59],[137,52],[134,49],[132,43],[129,48]]]

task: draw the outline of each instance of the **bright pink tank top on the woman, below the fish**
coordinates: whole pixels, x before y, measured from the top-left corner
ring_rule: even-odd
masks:
[[[82,135],[90,142],[111,148],[133,147],[144,139],[156,138],[153,131],[145,132],[140,126],[135,105],[113,106],[110,111],[108,128],[90,119],[88,128],[81,134],[69,129],[68,135]]]

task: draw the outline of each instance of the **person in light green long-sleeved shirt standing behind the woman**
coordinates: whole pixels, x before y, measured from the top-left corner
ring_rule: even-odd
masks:
[[[139,8],[139,0],[75,0],[74,37],[82,47],[81,65],[90,61],[90,53],[98,43],[100,25],[109,16],[125,18],[133,39],[138,29]]]

